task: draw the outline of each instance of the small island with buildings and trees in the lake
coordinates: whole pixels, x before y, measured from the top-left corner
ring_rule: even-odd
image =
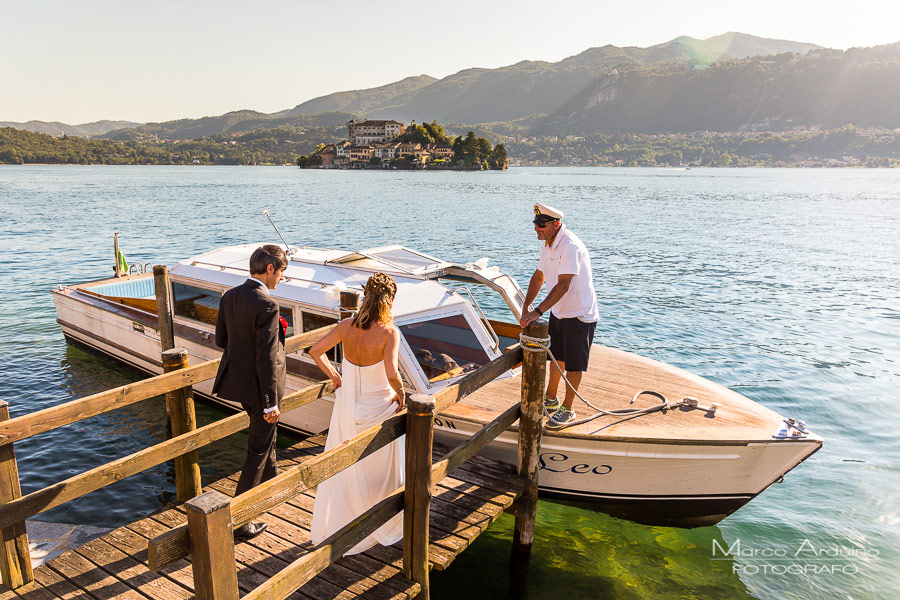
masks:
[[[503,170],[509,166],[503,144],[492,146],[470,131],[451,140],[437,121],[409,126],[393,120],[347,122],[347,139],[320,143],[297,159],[297,166],[319,169]]]

